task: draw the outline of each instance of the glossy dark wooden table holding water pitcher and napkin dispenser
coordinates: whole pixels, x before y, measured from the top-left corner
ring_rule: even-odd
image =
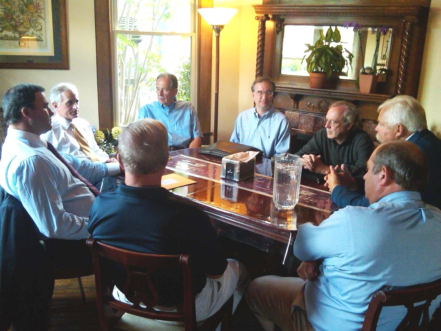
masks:
[[[197,148],[173,151],[170,156],[164,174],[179,173],[196,181],[172,189],[176,196],[205,211],[219,235],[267,252],[286,256],[300,224],[319,224],[337,209],[323,184],[302,178],[294,211],[277,210],[268,159],[256,162],[254,177],[234,182],[221,179],[221,158],[201,154]]]

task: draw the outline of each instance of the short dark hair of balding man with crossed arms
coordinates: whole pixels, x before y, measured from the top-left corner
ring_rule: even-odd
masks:
[[[382,143],[374,153],[374,173],[378,173],[383,166],[389,168],[395,183],[407,191],[422,192],[427,185],[427,158],[414,143],[391,140]]]

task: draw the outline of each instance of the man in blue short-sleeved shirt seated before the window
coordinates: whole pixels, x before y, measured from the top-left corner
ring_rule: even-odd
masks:
[[[167,128],[168,149],[200,147],[202,130],[194,106],[187,101],[176,100],[178,80],[168,72],[161,73],[156,79],[158,101],[139,109],[138,120],[153,118]]]

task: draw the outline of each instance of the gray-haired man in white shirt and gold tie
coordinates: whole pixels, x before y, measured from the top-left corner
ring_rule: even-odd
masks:
[[[115,162],[108,166],[112,170],[119,169],[116,158],[109,159],[108,154],[98,147],[89,122],[78,117],[77,87],[71,83],[59,83],[52,87],[49,97],[56,114],[52,117],[52,130],[42,134],[41,138],[52,143],[59,152],[74,155],[80,160]],[[116,187],[111,178],[105,180],[102,188],[101,181],[93,184],[102,192],[113,191]]]

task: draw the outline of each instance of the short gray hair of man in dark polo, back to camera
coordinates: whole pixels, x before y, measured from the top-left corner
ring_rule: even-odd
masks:
[[[123,128],[118,152],[124,168],[138,175],[157,173],[168,161],[168,134],[164,124],[143,118]]]

